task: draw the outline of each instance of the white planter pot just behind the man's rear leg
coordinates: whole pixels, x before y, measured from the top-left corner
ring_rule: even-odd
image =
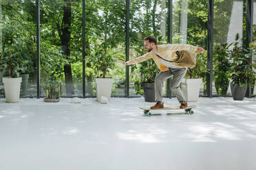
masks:
[[[202,79],[184,79],[182,80],[182,93],[187,101],[198,101],[200,84]]]

